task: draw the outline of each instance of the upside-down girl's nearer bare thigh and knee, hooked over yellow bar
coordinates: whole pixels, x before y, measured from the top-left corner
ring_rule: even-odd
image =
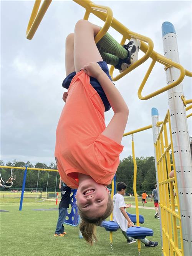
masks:
[[[88,62],[103,61],[94,37],[100,27],[87,20],[79,20],[74,29],[74,67],[76,73]]]

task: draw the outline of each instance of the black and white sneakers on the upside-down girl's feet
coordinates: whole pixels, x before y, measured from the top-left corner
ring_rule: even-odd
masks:
[[[127,43],[126,45],[122,45],[122,47],[127,50],[128,55],[127,58],[124,60],[119,59],[120,61],[118,65],[115,66],[115,68],[117,68],[120,73],[122,73],[124,70],[126,70],[129,66],[131,66],[138,60],[138,52],[140,46],[140,40],[133,37],[130,39],[129,43]]]

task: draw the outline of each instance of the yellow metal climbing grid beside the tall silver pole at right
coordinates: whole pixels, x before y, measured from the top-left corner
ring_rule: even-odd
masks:
[[[168,143],[167,135],[167,122],[169,125],[170,143]],[[159,135],[156,143],[156,157],[157,157],[157,173],[159,180],[159,196],[160,196],[160,207],[161,207],[161,223],[162,223],[162,241],[163,248],[162,252],[164,255],[175,255],[183,256],[183,239],[182,239],[182,228],[180,218],[180,207],[179,198],[177,196],[176,202],[174,199],[174,191],[178,195],[177,187],[177,175],[175,172],[175,160],[174,154],[172,153],[172,162],[170,162],[170,150],[173,152],[172,133],[170,126],[170,115],[169,110],[167,111],[166,117],[162,123]],[[174,178],[169,178],[171,166],[174,170]],[[170,195],[169,195],[170,191]],[[169,201],[170,198],[170,201]],[[175,208],[178,208],[176,212]],[[179,226],[177,226],[179,221]],[[180,247],[178,241],[177,229],[180,232]]]

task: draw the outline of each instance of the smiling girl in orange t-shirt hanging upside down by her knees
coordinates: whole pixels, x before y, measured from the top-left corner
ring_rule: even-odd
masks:
[[[111,81],[107,63],[122,71],[138,60],[140,47],[134,38],[122,47],[108,33],[96,45],[94,37],[99,30],[100,27],[79,20],[74,33],[66,38],[67,77],[63,87],[68,92],[63,94],[66,103],[56,130],[55,148],[61,179],[71,188],[78,188],[80,230],[89,244],[96,240],[96,226],[113,211],[106,186],[111,184],[119,165],[129,115]],[[104,112],[111,107],[114,115],[106,127]]]

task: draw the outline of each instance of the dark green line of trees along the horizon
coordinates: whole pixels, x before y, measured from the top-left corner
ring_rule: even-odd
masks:
[[[154,156],[146,157],[143,156],[140,158],[136,158],[137,163],[137,191],[152,191],[155,188],[156,184],[156,171],[155,171],[155,160]],[[17,161],[7,162],[6,164],[3,161],[0,161],[0,165],[4,166],[17,166],[17,167],[25,167],[28,165],[29,168],[44,168],[44,169],[57,169],[56,164],[50,163],[50,165],[46,165],[45,163],[36,163],[32,165],[29,161]],[[20,169],[12,169],[13,173],[17,175],[17,179],[14,181],[14,188],[22,188],[23,183],[23,174],[24,170]],[[6,181],[10,177],[10,169],[2,168],[0,170],[2,178]],[[49,173],[49,177],[48,177]],[[59,184],[60,176],[57,176],[57,188]],[[116,182],[123,181],[127,185],[128,191],[133,191],[133,178],[134,178],[134,165],[132,156],[128,156],[120,161],[118,166],[118,170],[116,172]],[[48,189],[54,189],[56,185],[56,172],[55,171],[39,171],[39,179],[38,179],[38,171],[37,170],[28,170],[26,176],[25,188],[33,188],[36,189],[38,180],[38,188],[42,188],[43,191],[46,190],[46,185],[48,181]]]

